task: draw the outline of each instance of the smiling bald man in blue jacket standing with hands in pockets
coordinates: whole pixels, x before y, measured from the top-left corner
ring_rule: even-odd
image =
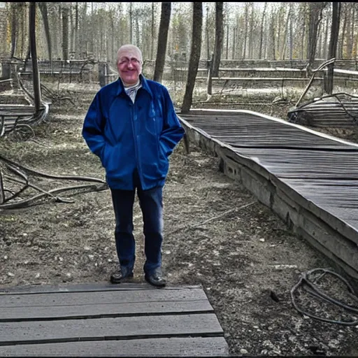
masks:
[[[96,93],[83,124],[83,138],[106,169],[115,212],[119,270],[112,283],[133,277],[133,205],[137,192],[145,236],[145,280],[164,287],[162,189],[169,156],[185,134],[166,87],[142,74],[141,50],[117,52],[119,78]]]

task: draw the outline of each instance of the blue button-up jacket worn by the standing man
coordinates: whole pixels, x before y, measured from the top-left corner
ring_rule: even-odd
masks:
[[[166,87],[143,75],[141,83],[134,103],[120,78],[102,87],[83,124],[83,138],[112,189],[134,189],[135,169],[143,190],[163,186],[169,155],[185,134]]]

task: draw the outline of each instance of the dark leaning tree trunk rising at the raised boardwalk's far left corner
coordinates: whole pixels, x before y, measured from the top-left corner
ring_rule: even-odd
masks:
[[[193,4],[193,29],[192,48],[190,50],[189,69],[187,73],[187,85],[185,87],[184,99],[182,101],[181,113],[189,112],[192,106],[192,96],[195,85],[196,73],[198,72],[201,53],[201,29],[203,25],[203,3]]]

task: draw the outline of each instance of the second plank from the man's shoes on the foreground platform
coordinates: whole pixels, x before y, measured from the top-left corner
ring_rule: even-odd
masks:
[[[126,317],[131,315],[168,315],[182,313],[209,313],[213,307],[207,299],[198,301],[157,301],[157,302],[117,302],[93,303],[73,306],[25,306],[7,307],[0,311],[0,322],[20,322],[25,320],[64,320],[87,317]]]

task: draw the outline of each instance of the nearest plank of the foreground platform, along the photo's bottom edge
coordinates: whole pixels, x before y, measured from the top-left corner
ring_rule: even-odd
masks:
[[[229,348],[223,337],[148,338],[0,346],[1,357],[223,357]]]

